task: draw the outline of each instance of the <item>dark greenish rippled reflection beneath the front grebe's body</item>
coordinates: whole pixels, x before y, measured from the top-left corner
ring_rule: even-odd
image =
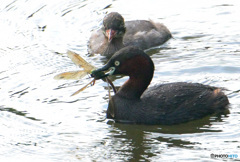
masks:
[[[207,132],[212,132],[212,134],[222,132],[220,129],[211,129],[211,123],[223,122],[222,118],[208,116],[177,126],[129,125],[109,121],[108,124],[114,129],[111,131],[111,144],[108,146],[111,150],[118,150],[121,147],[118,154],[125,161],[150,160],[167,148],[194,149],[195,145],[201,145],[201,142],[191,142],[182,137],[192,134],[198,136]]]

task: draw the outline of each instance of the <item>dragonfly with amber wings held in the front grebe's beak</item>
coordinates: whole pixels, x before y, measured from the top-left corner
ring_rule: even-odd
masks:
[[[85,77],[86,75],[91,74],[91,72],[96,69],[95,66],[91,65],[90,63],[88,63],[80,55],[78,55],[77,53],[75,53],[73,51],[67,51],[67,55],[72,60],[72,62],[74,64],[76,64],[79,67],[82,67],[83,70],[69,71],[69,72],[60,73],[60,74],[54,76],[54,79],[56,79],[56,80],[60,80],[60,79],[80,80],[83,77]],[[88,84],[86,84],[84,87],[82,87],[81,89],[79,89],[76,92],[74,92],[71,96],[75,96],[78,93],[82,92],[89,85],[93,86],[95,84],[95,81],[96,81],[96,79],[94,78]],[[114,84],[112,83],[112,81],[109,78],[106,78],[106,81],[108,83],[108,88],[109,88],[109,84],[110,84],[112,89],[113,89],[113,91],[114,91],[114,93],[116,93],[116,88],[115,88]],[[109,88],[109,94],[110,94],[110,88]]]

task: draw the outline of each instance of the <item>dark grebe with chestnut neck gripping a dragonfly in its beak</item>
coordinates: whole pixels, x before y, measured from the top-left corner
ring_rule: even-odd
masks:
[[[99,76],[99,72],[109,69],[109,74]],[[153,72],[151,58],[131,46],[122,48],[103,68],[93,71],[97,79],[117,74],[129,76],[109,101],[107,118],[118,122],[171,125],[227,110],[228,98],[217,87],[177,82],[147,88]]]

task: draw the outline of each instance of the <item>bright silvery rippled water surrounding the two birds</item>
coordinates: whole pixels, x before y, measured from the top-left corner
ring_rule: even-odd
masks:
[[[1,161],[215,161],[240,160],[239,1],[14,0],[0,4]],[[106,83],[56,81],[77,70],[73,50],[87,56],[92,30],[107,12],[126,20],[164,23],[174,39],[148,50],[155,63],[152,84],[175,81],[225,87],[230,114],[176,126],[116,124],[105,119]],[[114,81],[117,86],[127,78]]]

